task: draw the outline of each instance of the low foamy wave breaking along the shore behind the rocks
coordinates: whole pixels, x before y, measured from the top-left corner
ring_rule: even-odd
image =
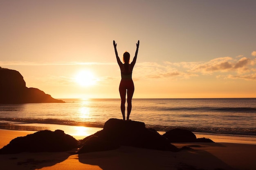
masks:
[[[26,124],[29,124],[25,128]],[[33,127],[33,124],[55,124],[55,125],[67,125],[67,126],[85,126],[103,128],[104,122],[78,122],[78,121],[67,121],[60,119],[22,119],[22,118],[0,118],[0,128],[12,129],[15,126],[23,126],[23,130],[41,130],[40,128]],[[256,128],[199,128],[199,127],[187,127],[187,126],[162,126],[162,125],[150,125],[146,124],[147,128],[153,128],[157,131],[168,131],[173,128],[187,129],[192,132],[211,133],[211,134],[227,134],[227,135],[250,135],[256,137]]]

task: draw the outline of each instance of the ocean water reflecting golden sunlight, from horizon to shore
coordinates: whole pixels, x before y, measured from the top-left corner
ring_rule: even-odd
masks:
[[[65,126],[65,129],[102,129],[108,119],[122,119],[120,99],[62,100],[66,103],[0,104],[0,128],[52,130]],[[254,140],[256,98],[132,99],[130,119],[142,121],[146,127],[162,133],[172,128],[184,128],[198,134],[224,134]]]

